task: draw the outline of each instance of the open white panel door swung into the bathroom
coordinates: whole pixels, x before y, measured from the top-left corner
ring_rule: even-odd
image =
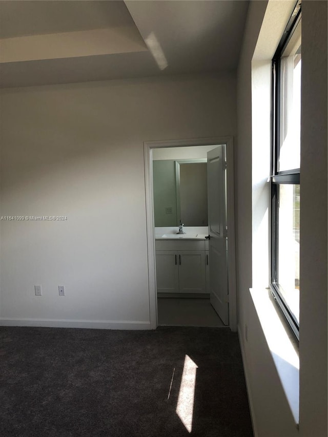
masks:
[[[207,160],[210,299],[224,325],[228,325],[226,145],[208,152]]]

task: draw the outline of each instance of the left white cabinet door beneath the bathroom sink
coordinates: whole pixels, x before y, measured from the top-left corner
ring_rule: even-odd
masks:
[[[179,293],[177,251],[156,251],[157,293]]]

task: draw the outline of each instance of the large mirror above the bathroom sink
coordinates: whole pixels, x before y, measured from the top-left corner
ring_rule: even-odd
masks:
[[[207,226],[207,160],[153,161],[155,227]]]

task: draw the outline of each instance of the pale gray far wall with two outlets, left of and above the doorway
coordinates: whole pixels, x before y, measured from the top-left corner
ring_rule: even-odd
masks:
[[[1,221],[2,323],[149,327],[144,141],[235,136],[235,86],[229,73],[3,90],[2,214],[68,219]]]

